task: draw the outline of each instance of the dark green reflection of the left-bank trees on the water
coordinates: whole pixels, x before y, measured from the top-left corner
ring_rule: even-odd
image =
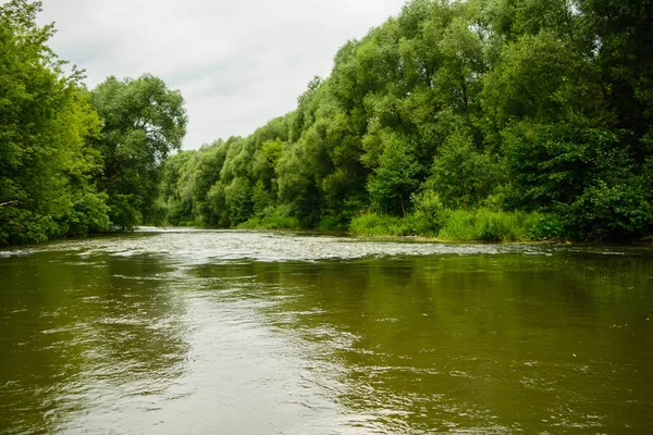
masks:
[[[3,262],[0,427],[56,432],[138,397],[144,407],[147,395],[164,397],[188,344],[183,299],[152,279],[163,268],[66,253]]]

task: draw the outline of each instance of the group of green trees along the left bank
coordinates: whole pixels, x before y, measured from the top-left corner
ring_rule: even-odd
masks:
[[[0,245],[162,221],[160,166],[185,135],[181,95],[148,74],[87,90],[49,48],[40,10],[0,5]]]

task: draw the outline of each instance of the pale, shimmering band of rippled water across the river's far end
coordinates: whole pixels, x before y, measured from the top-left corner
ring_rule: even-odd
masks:
[[[357,259],[364,257],[423,254],[496,254],[516,252],[551,256],[553,246],[441,244],[415,241],[372,241],[352,237],[311,235],[289,232],[169,229],[151,228],[128,236],[58,241],[24,251],[5,251],[3,256],[28,254],[38,251],[76,251],[79,257],[110,254],[164,256],[182,264],[222,261],[318,261]]]

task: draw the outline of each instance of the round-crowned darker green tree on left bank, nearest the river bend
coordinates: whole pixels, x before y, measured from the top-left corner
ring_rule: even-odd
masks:
[[[184,99],[162,79],[144,74],[137,79],[107,78],[93,90],[91,102],[103,121],[96,146],[104,161],[102,186],[111,221],[122,228],[148,222],[161,164],[181,149],[186,135]]]

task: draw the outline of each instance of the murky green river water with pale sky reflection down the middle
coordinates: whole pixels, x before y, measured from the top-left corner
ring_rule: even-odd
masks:
[[[653,251],[198,229],[0,251],[0,432],[653,433]]]

